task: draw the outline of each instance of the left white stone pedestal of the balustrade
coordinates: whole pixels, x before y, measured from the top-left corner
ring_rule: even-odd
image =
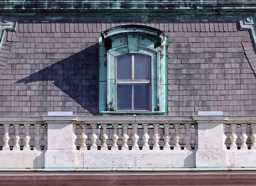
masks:
[[[45,168],[76,168],[73,122],[78,116],[42,116],[47,122],[48,147]]]

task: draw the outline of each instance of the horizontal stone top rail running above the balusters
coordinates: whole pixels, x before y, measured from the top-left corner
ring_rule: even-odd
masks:
[[[71,118],[72,117],[72,118]],[[3,124],[45,124],[51,121],[70,121],[76,124],[195,124],[222,122],[256,123],[256,115],[228,116],[228,115],[193,115],[193,116],[0,116],[0,125]]]

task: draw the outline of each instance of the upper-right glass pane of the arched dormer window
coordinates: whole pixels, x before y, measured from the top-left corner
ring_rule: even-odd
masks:
[[[141,54],[134,54],[135,80],[149,80],[150,78],[150,57]]]

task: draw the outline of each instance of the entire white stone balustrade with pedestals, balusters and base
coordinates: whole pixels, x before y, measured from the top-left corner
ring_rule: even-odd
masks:
[[[256,167],[254,116],[0,117],[0,127],[0,168]]]

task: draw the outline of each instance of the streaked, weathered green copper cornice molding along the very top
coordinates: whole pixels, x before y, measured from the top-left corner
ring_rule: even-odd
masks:
[[[1,9],[256,9],[256,0],[12,0]]]

